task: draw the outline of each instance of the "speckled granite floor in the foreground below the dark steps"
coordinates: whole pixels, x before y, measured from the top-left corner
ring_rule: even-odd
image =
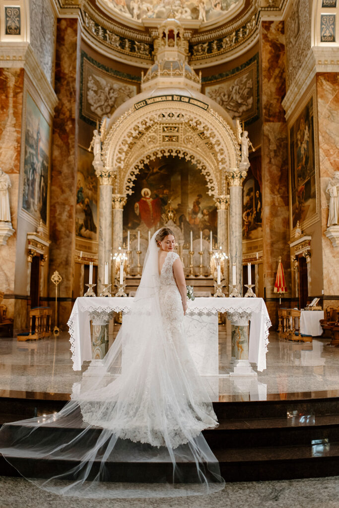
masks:
[[[21,478],[0,477],[0,508],[337,508],[339,477],[228,483],[210,496],[169,499],[63,498]]]

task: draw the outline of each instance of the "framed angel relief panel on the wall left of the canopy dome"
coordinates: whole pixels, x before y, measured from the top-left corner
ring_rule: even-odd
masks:
[[[126,79],[121,79],[122,76]],[[139,85],[136,79],[101,65],[83,52],[81,117],[95,124],[104,116],[111,116],[122,103],[138,93]]]

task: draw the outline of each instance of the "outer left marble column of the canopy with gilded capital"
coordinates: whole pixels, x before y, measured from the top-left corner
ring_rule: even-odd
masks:
[[[104,168],[103,163],[93,162],[96,175],[99,178],[100,206],[99,206],[99,247],[98,247],[98,292],[103,291],[105,276],[105,262],[108,262],[108,280],[111,280],[111,252],[112,252],[112,194],[115,174],[112,168]]]

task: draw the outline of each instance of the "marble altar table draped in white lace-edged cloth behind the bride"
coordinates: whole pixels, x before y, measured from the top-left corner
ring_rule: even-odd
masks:
[[[107,322],[113,312],[129,312],[133,302],[134,298],[119,297],[76,299],[68,321],[74,370],[81,370],[84,361],[93,359],[90,320]],[[200,297],[188,301],[184,316],[188,346],[199,373],[219,375],[219,312],[226,312],[232,324],[233,375],[256,375],[251,363],[256,364],[258,371],[263,371],[266,368],[268,329],[271,325],[263,299]],[[247,343],[249,323],[247,354],[247,344],[244,342]]]

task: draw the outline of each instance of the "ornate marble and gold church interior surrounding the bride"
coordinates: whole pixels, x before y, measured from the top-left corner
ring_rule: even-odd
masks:
[[[102,368],[168,227],[227,487],[159,505],[337,506],[336,16],[337,0],[0,0],[0,426],[59,411]],[[4,508],[99,506],[1,456],[0,484]]]

